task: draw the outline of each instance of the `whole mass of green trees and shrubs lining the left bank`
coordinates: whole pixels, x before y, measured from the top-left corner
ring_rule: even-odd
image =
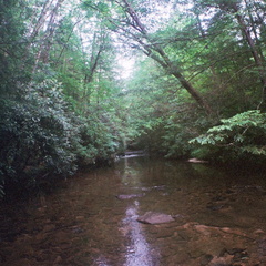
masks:
[[[94,59],[99,48],[82,51],[71,10],[59,13],[60,2],[0,2],[1,194],[109,162],[123,149],[116,100],[109,100],[117,93],[109,64],[112,50],[101,48],[105,60]]]

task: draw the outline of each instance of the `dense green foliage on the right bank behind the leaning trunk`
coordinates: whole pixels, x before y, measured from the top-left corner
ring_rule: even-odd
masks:
[[[140,134],[136,137],[140,146],[166,156],[212,157],[212,149],[198,150],[190,140],[224,117],[255,109],[265,112],[266,7],[263,2],[193,1],[184,4],[175,1],[172,16],[165,18],[167,23],[157,24],[155,29],[137,10],[136,1],[120,2],[127,13],[127,28],[115,31],[136,51],[153,60],[142,58],[126,84],[135,117],[131,117],[131,126]],[[135,12],[129,11],[129,4]],[[160,12],[161,6],[147,7],[150,12]],[[116,17],[116,24],[117,21]],[[125,18],[120,22],[124,25],[124,21]],[[184,79],[197,94],[190,91]],[[252,145],[252,134],[247,139]],[[228,153],[226,146],[219,147],[219,152],[221,156],[214,156],[218,162],[241,160],[236,153]],[[246,157],[252,160],[254,155],[248,153]],[[262,160],[265,158],[262,156]]]

